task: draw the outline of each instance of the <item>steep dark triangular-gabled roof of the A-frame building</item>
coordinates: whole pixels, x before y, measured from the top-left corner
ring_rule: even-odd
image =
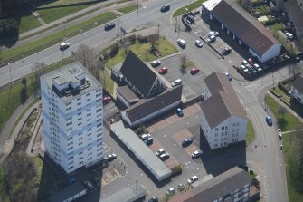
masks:
[[[153,87],[157,76],[135,53],[128,52],[120,72],[144,94],[144,97],[148,97],[148,92]]]

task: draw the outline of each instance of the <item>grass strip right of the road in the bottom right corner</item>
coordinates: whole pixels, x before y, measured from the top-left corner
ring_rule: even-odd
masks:
[[[286,176],[287,176],[287,183],[288,183],[288,193],[289,193],[289,201],[296,201],[296,202],[302,202],[303,201],[303,193],[299,193],[296,191],[295,188],[293,188],[291,180],[289,178],[289,160],[291,156],[289,156],[289,147],[290,147],[290,136],[293,135],[291,133],[289,134],[283,134],[283,150],[284,150],[284,155],[285,155],[285,160],[286,160]],[[302,178],[300,179],[302,180]]]

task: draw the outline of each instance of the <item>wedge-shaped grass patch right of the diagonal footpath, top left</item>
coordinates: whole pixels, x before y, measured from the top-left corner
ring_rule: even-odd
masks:
[[[92,5],[92,4],[91,4]],[[62,6],[56,8],[37,8],[37,12],[45,23],[51,23],[52,21],[58,20],[67,15],[76,13],[90,5],[74,5],[74,6]]]

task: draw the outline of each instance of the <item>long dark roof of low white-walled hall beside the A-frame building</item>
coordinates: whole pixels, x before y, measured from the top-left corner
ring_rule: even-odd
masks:
[[[131,122],[141,120],[143,117],[146,117],[155,111],[159,111],[176,101],[180,101],[181,95],[182,85],[166,89],[166,91],[152,99],[141,100],[126,110],[128,119]]]

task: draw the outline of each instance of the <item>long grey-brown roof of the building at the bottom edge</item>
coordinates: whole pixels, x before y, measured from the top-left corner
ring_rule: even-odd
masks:
[[[237,188],[250,183],[248,174],[241,168],[234,167],[223,174],[204,182],[201,186],[190,189],[185,194],[175,197],[171,202],[213,202],[224,197]]]

